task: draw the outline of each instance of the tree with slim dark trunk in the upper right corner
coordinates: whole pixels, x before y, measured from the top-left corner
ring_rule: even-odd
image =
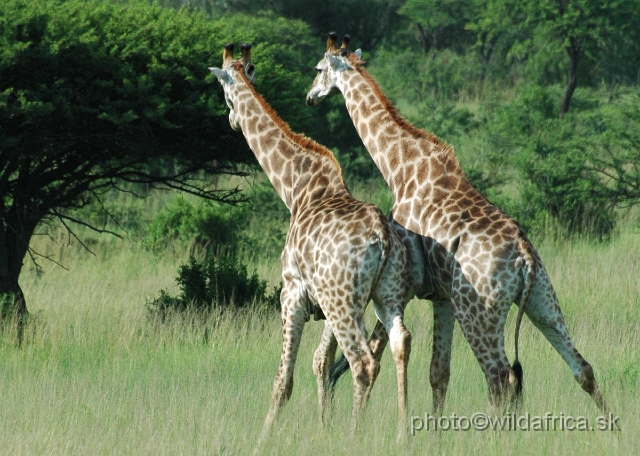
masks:
[[[555,65],[566,56],[566,86],[558,108],[562,119],[569,111],[580,78],[592,78],[603,55],[621,44],[638,49],[636,0],[479,0],[482,8],[468,25],[478,41],[511,30],[510,54],[535,61],[535,56]],[[636,65],[637,71],[637,65]],[[547,83],[549,81],[546,81]]]

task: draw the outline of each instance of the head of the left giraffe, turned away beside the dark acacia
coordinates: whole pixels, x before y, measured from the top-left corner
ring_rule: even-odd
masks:
[[[225,44],[222,52],[222,68],[209,68],[216,75],[218,81],[224,90],[224,99],[229,107],[229,123],[234,130],[240,130],[240,123],[236,118],[234,102],[236,99],[236,91],[234,90],[234,76],[238,71],[243,71],[249,82],[253,83],[256,77],[256,67],[251,63],[251,45],[243,44],[240,46],[242,56],[240,59],[233,58],[234,45],[232,43]]]

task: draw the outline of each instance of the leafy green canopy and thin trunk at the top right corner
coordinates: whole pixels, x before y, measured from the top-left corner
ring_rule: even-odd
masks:
[[[526,62],[536,84],[566,81],[558,109],[568,111],[578,81],[637,79],[637,0],[479,0],[467,27],[478,42],[508,40],[508,58]],[[628,59],[635,62],[629,65]]]

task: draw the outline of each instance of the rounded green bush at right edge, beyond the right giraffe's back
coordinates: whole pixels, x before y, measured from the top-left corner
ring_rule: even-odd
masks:
[[[559,90],[526,87],[494,107],[492,160],[515,170],[518,192],[502,207],[534,236],[553,221],[566,236],[606,240],[616,230],[616,209],[640,200],[638,95],[579,90],[580,110],[558,120]]]

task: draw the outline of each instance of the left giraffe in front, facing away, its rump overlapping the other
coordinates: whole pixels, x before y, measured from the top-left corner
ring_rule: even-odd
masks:
[[[352,428],[364,410],[380,370],[367,342],[364,311],[373,299],[389,334],[397,368],[398,426],[406,428],[407,365],[411,334],[404,318],[406,250],[380,209],[356,200],[333,154],[296,134],[253,88],[251,46],[234,59],[225,46],[222,68],[210,68],[221,83],[229,122],[249,147],[291,212],[282,252],[282,354],[260,442],[291,396],[293,368],[305,322],[325,319],[314,353],[320,415],[327,402],[328,368],[339,345],[352,367]]]

